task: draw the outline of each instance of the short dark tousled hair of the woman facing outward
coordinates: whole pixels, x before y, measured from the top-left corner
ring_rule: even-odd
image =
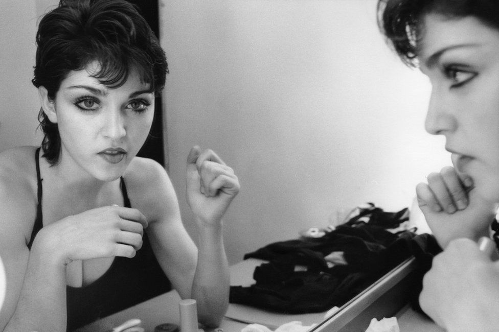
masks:
[[[71,71],[93,61],[100,64],[93,77],[108,87],[125,84],[132,68],[156,94],[165,85],[165,52],[137,8],[125,0],[61,0],[40,20],[36,43],[32,82],[45,87],[52,100]],[[57,124],[43,110],[38,121],[43,156],[53,165],[61,148]]]

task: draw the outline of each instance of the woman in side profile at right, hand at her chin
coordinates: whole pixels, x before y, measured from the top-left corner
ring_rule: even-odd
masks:
[[[416,190],[444,248],[423,279],[421,307],[448,330],[497,330],[499,263],[476,241],[499,202],[499,2],[387,0],[378,9],[396,52],[432,83],[425,127],[445,136],[454,166]]]

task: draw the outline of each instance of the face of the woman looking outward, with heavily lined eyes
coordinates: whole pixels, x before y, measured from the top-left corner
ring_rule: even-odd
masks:
[[[61,82],[51,116],[61,137],[61,167],[110,181],[123,175],[149,134],[154,92],[134,70],[124,85],[108,88],[90,76],[97,65]]]

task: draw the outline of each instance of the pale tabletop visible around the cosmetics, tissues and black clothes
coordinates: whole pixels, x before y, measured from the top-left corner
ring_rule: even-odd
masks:
[[[250,284],[254,283],[254,280],[252,279],[253,271],[260,263],[261,260],[252,258],[243,260],[242,262],[231,266],[231,284],[234,286],[250,286]],[[78,331],[105,332],[129,319],[139,318],[142,320],[141,326],[146,330],[146,332],[153,332],[154,327],[162,323],[179,324],[179,301],[180,297],[178,296],[178,293],[176,291],[170,291],[137,305],[131,306],[121,312],[90,323],[78,329]],[[396,316],[401,331],[443,331],[431,320],[420,315],[419,313],[416,313],[409,306],[406,306],[400,310]],[[269,313],[254,307],[231,303],[224,319],[222,320],[220,328],[223,329],[224,332],[240,331],[243,327],[250,323],[259,323],[268,326],[271,330],[274,330],[279,325],[290,321],[301,321],[303,325],[308,326],[313,323],[319,323],[320,321],[323,321],[324,318],[325,313],[286,315]]]

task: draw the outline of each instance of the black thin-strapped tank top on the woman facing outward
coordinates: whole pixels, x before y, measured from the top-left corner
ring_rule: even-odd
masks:
[[[41,213],[43,179],[40,177],[39,153],[40,148],[35,153],[38,207],[28,243],[29,249],[36,234],[43,227]],[[123,177],[120,181],[124,206],[131,207]],[[109,269],[87,286],[66,286],[67,330],[71,331],[170,290],[170,281],[157,263],[147,233],[144,233],[142,248],[137,251],[135,257],[115,257]]]

